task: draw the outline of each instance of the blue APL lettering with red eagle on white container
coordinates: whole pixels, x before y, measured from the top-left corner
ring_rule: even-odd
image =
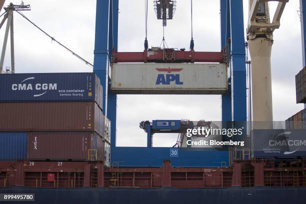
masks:
[[[182,68],[156,68],[157,71],[166,72],[166,73],[159,73],[156,79],[156,85],[170,85],[171,82],[175,83],[176,85],[184,84],[182,81],[179,80],[179,73],[173,74],[172,72],[179,72]]]

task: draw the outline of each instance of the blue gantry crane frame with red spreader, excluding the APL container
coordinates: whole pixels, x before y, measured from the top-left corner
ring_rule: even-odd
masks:
[[[178,159],[178,157],[170,157],[170,148],[117,147],[117,95],[110,88],[111,76],[109,70],[111,63],[118,62],[228,62],[232,67],[232,72],[228,77],[228,91],[222,95],[221,120],[246,121],[246,69],[242,0],[220,0],[221,49],[219,52],[202,52],[193,49],[189,51],[158,50],[157,54],[152,56],[147,54],[147,49],[141,52],[120,52],[118,50],[118,5],[118,0],[97,0],[93,64],[93,71],[100,77],[103,92],[107,93],[103,95],[103,111],[111,121],[111,161],[120,162],[120,166],[160,166],[163,159],[171,159],[173,166],[219,165],[207,162],[208,157],[219,157],[220,160],[228,161],[227,151],[220,151],[218,154],[213,151],[178,150]],[[168,51],[170,54],[164,57],[164,51]],[[175,59],[172,57],[173,52]]]

